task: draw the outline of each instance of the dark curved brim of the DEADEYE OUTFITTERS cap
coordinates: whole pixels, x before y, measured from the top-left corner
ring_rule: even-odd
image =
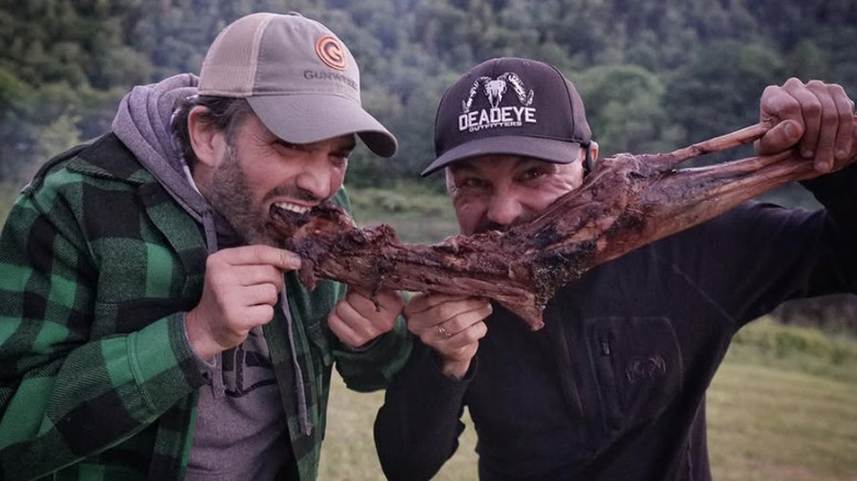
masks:
[[[425,177],[450,164],[483,155],[520,155],[553,164],[571,164],[579,154],[580,144],[575,142],[516,135],[485,137],[450,148],[430,164],[421,175]]]

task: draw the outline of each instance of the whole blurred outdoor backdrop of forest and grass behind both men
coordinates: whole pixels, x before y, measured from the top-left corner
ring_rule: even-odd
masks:
[[[753,124],[764,87],[792,76],[857,97],[857,0],[0,0],[0,221],[43,163],[109,130],[127,90],[198,72],[216,33],[256,11],[299,11],[354,53],[364,104],[401,148],[391,160],[359,148],[346,186],[358,222],[390,223],[408,242],[456,233],[443,176],[419,172],[434,156],[443,91],[490,57],[561,69],[602,157]],[[766,198],[815,205],[795,186]],[[717,479],[856,480],[855,299],[790,303],[756,324],[710,395]],[[322,479],[379,479],[370,429],[380,400],[337,384]],[[438,479],[475,479],[467,439]]]

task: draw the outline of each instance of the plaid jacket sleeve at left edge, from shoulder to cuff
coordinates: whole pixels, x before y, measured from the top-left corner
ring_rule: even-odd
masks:
[[[105,265],[99,243],[111,240],[84,225],[110,225],[82,212],[91,189],[86,176],[54,172],[19,198],[0,235],[0,480],[107,449],[202,382],[180,313],[123,329],[127,311],[101,299],[105,271],[123,262]]]

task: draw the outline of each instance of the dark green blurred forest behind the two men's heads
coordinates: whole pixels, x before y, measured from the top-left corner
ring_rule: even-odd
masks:
[[[357,186],[415,178],[444,89],[492,56],[564,70],[605,155],[753,123],[764,86],[790,76],[857,97],[855,0],[0,0],[0,182],[107,131],[134,85],[198,72],[232,20],[292,10],[348,44],[364,103],[400,139],[392,161],[358,150]]]

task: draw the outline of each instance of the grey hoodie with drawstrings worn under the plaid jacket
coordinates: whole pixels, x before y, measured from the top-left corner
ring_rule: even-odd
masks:
[[[238,245],[238,236],[197,190],[187,164],[170,133],[178,102],[197,93],[191,74],[169,77],[158,83],[135,87],[120,103],[113,132],[155,176],[169,194],[200,224],[209,254]],[[294,357],[291,315],[280,297]],[[296,379],[300,366],[292,359]],[[200,392],[198,418],[188,467],[188,479],[272,479],[290,462],[289,434],[282,401],[260,328],[247,340],[218,356],[213,363],[199,359],[210,379]],[[309,432],[303,387],[294,391],[304,406],[302,426]]]

